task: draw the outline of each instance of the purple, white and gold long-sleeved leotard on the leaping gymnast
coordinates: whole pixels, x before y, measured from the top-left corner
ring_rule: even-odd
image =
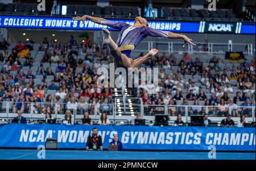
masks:
[[[101,24],[119,30],[117,45],[121,52],[131,58],[131,51],[137,47],[146,36],[168,37],[168,31],[154,30],[154,28],[143,26],[133,27],[125,22],[113,22],[102,19]]]

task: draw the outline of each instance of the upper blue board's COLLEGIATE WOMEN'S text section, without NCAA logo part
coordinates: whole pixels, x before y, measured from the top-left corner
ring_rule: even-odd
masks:
[[[133,24],[134,20],[110,19],[115,22],[126,22]],[[199,22],[165,22],[148,21],[148,26],[156,30],[173,32],[198,32]],[[80,29],[80,30],[101,30],[107,26],[94,23],[90,20],[81,21],[72,20],[72,18],[53,18],[53,17],[35,17],[35,16],[0,16],[0,27],[19,27],[19,28],[57,28],[57,29]],[[114,30],[113,28],[109,28]]]

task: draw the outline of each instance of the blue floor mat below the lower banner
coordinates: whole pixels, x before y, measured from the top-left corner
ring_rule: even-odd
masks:
[[[37,160],[37,150],[0,149],[0,160]],[[217,160],[255,160],[251,152],[217,152]],[[208,152],[47,150],[46,160],[209,160]]]

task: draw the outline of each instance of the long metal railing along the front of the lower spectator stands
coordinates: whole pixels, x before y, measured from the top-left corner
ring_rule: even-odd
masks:
[[[83,112],[89,112],[89,116],[94,121],[100,119],[100,114],[106,113],[108,118],[113,123],[129,123],[133,120],[136,114],[141,114],[142,118],[147,120],[154,120],[154,116],[158,114],[170,116],[170,120],[175,120],[177,114],[183,116],[184,121],[188,122],[191,115],[208,114],[209,117],[220,121],[225,118],[227,114],[231,114],[233,118],[239,120],[241,115],[245,115],[249,122],[255,122],[255,106],[252,107],[229,107],[229,106],[197,106],[197,105],[139,105],[138,111],[123,111],[120,115],[117,111],[117,103],[109,105],[89,104],[86,109],[76,107],[69,109],[72,112],[72,117],[75,121],[83,118]],[[126,104],[129,105],[129,104]],[[132,105],[132,106],[134,106]],[[133,108],[134,109],[134,108]],[[23,106],[16,102],[0,102],[0,119],[12,120],[17,116],[17,111],[22,110],[23,116],[29,122],[35,123],[38,119],[45,119],[46,112],[50,112],[52,117],[61,122],[64,119],[65,111],[68,110],[67,103],[26,103]]]

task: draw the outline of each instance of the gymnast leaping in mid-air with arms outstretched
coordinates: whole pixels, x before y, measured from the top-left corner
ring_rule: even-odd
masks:
[[[117,43],[115,43],[109,35],[109,30],[103,28],[103,41],[105,44],[108,44],[110,53],[114,57],[115,65],[117,67],[124,67],[126,69],[135,68],[142,64],[145,60],[150,59],[152,55],[156,55],[156,53],[158,53],[157,49],[151,49],[151,51],[145,56],[139,57],[135,60],[131,58],[131,51],[135,49],[137,45],[141,43],[141,41],[147,36],[183,39],[184,45],[185,43],[188,43],[191,46],[196,45],[192,43],[192,39],[189,39],[185,35],[175,34],[170,31],[154,30],[154,28],[148,27],[147,20],[141,16],[137,16],[135,18],[133,26],[125,22],[113,22],[89,15],[84,15],[81,17],[77,16],[73,17],[72,19],[80,20],[82,23],[84,23],[86,19],[89,19],[94,23],[103,24],[120,31],[118,34]]]

